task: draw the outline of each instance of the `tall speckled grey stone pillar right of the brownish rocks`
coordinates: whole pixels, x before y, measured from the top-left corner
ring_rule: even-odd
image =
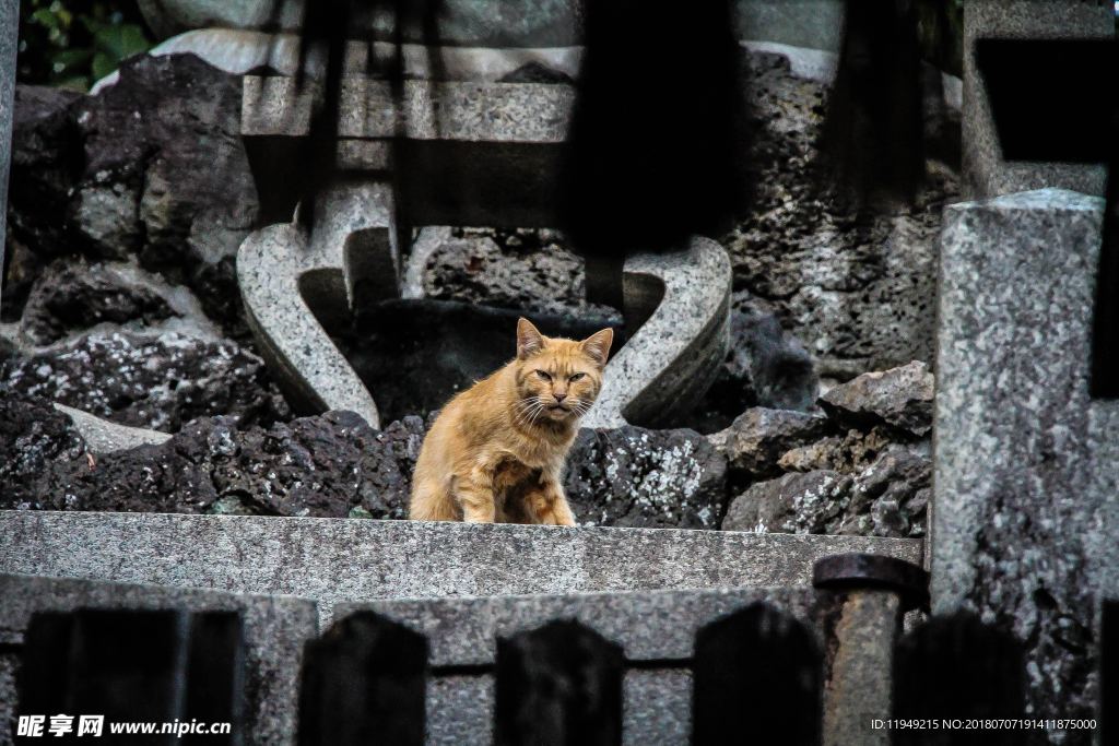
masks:
[[[1037,717],[1091,717],[1099,599],[1119,589],[1119,402],[1088,387],[1102,213],[1046,189],[944,218],[933,611],[1028,641]]]

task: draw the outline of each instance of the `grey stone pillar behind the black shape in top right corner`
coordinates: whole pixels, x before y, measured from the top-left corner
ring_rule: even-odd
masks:
[[[1110,2],[968,0],[963,4],[963,195],[994,197],[1059,187],[1102,195],[1102,166],[1003,160],[987,89],[976,70],[976,39],[1090,39],[1115,36]],[[1084,73],[1091,75],[1090,72]],[[1103,75],[1102,73],[1100,74]],[[1099,95],[1109,82],[1100,78]]]

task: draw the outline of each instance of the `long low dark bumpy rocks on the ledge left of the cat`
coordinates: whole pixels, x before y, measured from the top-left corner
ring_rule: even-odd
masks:
[[[20,402],[3,397],[0,407],[25,407]],[[348,412],[267,431],[214,417],[190,423],[162,445],[94,463],[77,457],[82,441],[67,440],[62,417],[51,421],[50,437],[30,417],[0,431],[6,461],[30,464],[0,508],[403,518],[423,440],[419,417],[380,432]]]

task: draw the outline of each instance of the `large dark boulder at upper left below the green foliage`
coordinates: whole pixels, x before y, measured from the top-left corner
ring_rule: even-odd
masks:
[[[239,78],[191,55],[140,56],[96,96],[25,88],[20,106],[11,204],[20,240],[43,256],[137,256],[243,336],[234,256],[257,199]]]

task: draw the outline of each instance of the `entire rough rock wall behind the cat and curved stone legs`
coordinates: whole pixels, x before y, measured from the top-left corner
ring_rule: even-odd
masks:
[[[671,428],[580,433],[566,490],[583,523],[920,536],[931,375],[914,363],[818,398],[816,360],[849,379],[928,359],[953,177],[933,163],[905,215],[833,215],[806,178],[825,86],[752,62],[759,192],[723,240],[723,370]],[[238,77],[191,56],[139,57],[97,96],[18,86],[0,317],[0,483],[15,487],[0,507],[404,514],[426,413],[399,407],[382,431],[292,419],[254,350],[234,267],[258,210],[239,111]],[[585,302],[583,273],[554,232],[454,229],[421,284],[619,318]],[[54,402],[172,437],[93,453]]]

